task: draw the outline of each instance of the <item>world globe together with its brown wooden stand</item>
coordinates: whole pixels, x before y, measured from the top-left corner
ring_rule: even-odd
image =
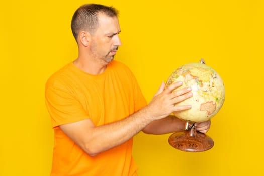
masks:
[[[183,83],[178,89],[191,87],[193,96],[176,105],[191,105],[192,107],[173,113],[176,117],[186,121],[187,131],[173,133],[168,142],[172,147],[188,152],[209,150],[214,146],[213,139],[196,131],[194,123],[209,120],[221,109],[225,100],[223,80],[201,59],[200,63],[188,63],[175,69],[165,86],[178,81]],[[189,124],[192,124],[191,127],[188,127]]]

